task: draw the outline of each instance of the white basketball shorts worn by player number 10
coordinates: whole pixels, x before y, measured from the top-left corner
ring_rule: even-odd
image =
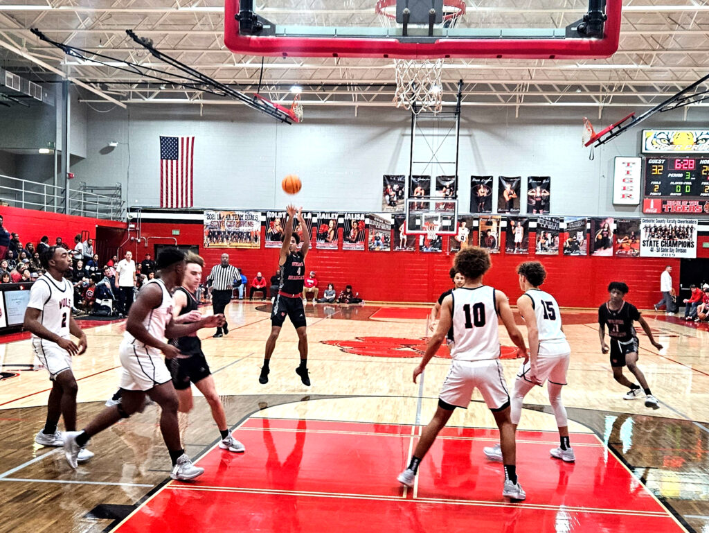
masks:
[[[510,395],[500,361],[453,360],[438,397],[450,405],[466,409],[473,390],[480,391],[485,404],[493,411],[510,405]]]

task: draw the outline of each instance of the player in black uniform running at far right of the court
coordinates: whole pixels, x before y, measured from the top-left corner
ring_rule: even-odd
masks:
[[[627,285],[620,281],[614,281],[608,285],[610,299],[605,304],[598,307],[598,336],[601,339],[601,351],[608,353],[608,344],[605,344],[605,326],[608,325],[608,336],[610,337],[610,366],[613,368],[613,379],[620,385],[630,388],[630,391],[623,396],[624,400],[635,400],[642,392],[645,393],[645,407],[659,409],[657,398],[652,395],[647,386],[647,380],[640,368],[637,368],[637,348],[638,341],[635,335],[633,322],[637,320],[643,331],[650,339],[650,344],[662,349],[662,345],[655,342],[645,319],[640,316],[640,311],[635,305],[625,302],[623,298],[627,295]],[[632,372],[640,385],[635,385],[623,375],[623,367]]]

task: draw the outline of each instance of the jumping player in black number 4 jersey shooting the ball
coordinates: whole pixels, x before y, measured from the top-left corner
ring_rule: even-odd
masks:
[[[310,376],[308,375],[308,336],[306,334],[306,312],[303,309],[303,280],[306,274],[306,255],[310,249],[310,235],[308,235],[306,221],[303,220],[303,208],[296,208],[292,205],[286,207],[286,228],[283,233],[283,246],[279,255],[278,264],[280,266],[281,284],[273,302],[271,311],[271,334],[266,341],[266,355],[264,356],[264,366],[261,368],[259,383],[268,383],[269,363],[273,350],[276,347],[276,339],[281,333],[281,327],[286,320],[286,316],[291,319],[291,323],[296,328],[298,334],[298,352],[301,356],[301,364],[296,368],[296,374],[301,377],[303,385],[310,386]],[[297,216],[298,222],[303,231],[303,245],[298,251],[298,234],[293,232],[293,219]]]

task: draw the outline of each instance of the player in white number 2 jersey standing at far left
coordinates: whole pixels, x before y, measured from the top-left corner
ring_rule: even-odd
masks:
[[[47,272],[30,288],[24,326],[32,333],[35,356],[49,373],[52,391],[47,421],[35,436],[35,442],[42,446],[64,446],[57,424],[61,416],[67,432],[77,429],[78,387],[72,373],[72,356],[86,351],[86,334],[72,317],[74,287],[64,277],[72,268],[69,252],[61,246],[50,246],[42,252],[40,260]],[[79,344],[74,344],[69,334],[79,339]],[[77,450],[77,460],[82,463],[93,456],[84,448]]]

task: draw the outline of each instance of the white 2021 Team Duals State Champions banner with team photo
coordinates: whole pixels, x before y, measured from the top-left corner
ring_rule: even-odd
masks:
[[[204,211],[205,248],[261,248],[261,211]]]

